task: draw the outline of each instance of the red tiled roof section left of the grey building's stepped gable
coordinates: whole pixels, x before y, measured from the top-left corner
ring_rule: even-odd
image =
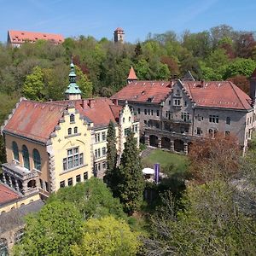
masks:
[[[162,102],[169,92],[171,83],[168,81],[132,81],[114,94],[111,99],[127,100],[131,102]]]

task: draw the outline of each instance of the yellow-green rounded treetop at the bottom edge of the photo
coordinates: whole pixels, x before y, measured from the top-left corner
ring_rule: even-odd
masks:
[[[128,224],[112,216],[90,218],[84,224],[81,243],[72,247],[73,255],[137,255],[140,241]]]

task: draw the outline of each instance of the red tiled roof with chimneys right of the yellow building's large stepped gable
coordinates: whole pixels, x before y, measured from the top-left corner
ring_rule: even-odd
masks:
[[[119,117],[122,107],[116,106],[108,98],[84,99],[75,101],[75,106],[79,113],[88,117],[94,126],[108,126],[109,121]]]

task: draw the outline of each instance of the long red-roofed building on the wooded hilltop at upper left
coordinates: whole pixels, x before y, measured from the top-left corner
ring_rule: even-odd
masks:
[[[53,44],[64,42],[64,38],[60,34],[9,30],[7,35],[7,43],[14,47],[20,47],[20,44],[26,42],[35,43],[38,40],[47,40]]]

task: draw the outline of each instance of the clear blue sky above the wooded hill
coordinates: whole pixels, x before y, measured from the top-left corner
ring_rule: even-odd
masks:
[[[2,42],[9,29],[112,39],[121,26],[131,43],[148,32],[201,32],[220,24],[256,30],[255,0],[0,0],[0,6]]]

